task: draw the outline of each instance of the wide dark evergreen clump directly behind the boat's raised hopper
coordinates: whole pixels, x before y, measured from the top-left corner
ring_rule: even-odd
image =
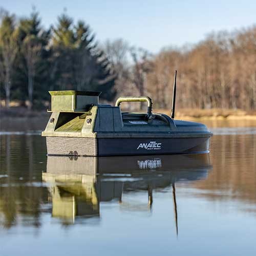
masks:
[[[53,28],[53,66],[56,87],[60,90],[102,91],[104,99],[115,96],[115,77],[108,59],[98,50],[89,26],[62,14]]]

